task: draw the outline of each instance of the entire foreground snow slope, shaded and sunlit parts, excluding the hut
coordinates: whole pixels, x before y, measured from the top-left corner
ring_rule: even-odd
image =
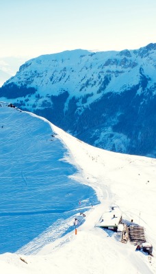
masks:
[[[1,272],[154,274],[156,160],[92,147],[12,104],[0,115],[0,247],[21,247],[1,254]],[[144,226],[153,257],[96,226],[112,205]]]

